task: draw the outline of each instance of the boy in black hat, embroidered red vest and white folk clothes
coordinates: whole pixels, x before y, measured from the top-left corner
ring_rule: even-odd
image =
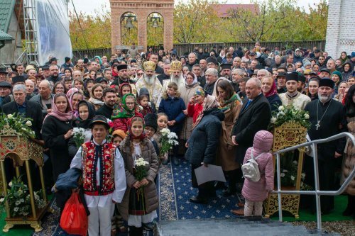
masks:
[[[109,124],[95,116],[89,124],[93,140],[85,142],[72,159],[70,168],[82,169],[84,197],[89,208],[89,236],[111,235],[114,204],[126,191],[126,174],[121,153],[106,141]]]

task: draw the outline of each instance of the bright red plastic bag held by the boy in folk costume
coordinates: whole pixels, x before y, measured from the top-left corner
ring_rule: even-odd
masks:
[[[70,235],[87,235],[89,227],[87,213],[77,191],[72,192],[72,196],[65,203],[60,217],[60,227]]]

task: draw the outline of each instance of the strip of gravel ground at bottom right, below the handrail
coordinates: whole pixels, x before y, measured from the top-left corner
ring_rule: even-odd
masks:
[[[315,221],[295,221],[293,225],[305,225],[308,230],[317,229]],[[322,222],[322,230],[326,232],[337,232],[342,236],[355,236],[355,220]]]

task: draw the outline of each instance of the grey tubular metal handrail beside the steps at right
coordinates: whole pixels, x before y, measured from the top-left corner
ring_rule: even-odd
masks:
[[[351,174],[345,179],[344,183],[342,186],[337,191],[320,191],[320,176],[318,174],[318,154],[317,154],[317,144],[324,143],[324,142],[330,142],[333,140],[338,140],[339,138],[342,137],[349,137],[349,140],[353,143],[355,147],[355,138],[354,135],[351,135],[351,133],[339,133],[337,135],[333,135],[331,137],[324,138],[322,140],[313,140],[310,142],[305,142],[297,146],[293,147],[288,147],[283,150],[278,150],[277,152],[274,152],[276,155],[276,170],[277,170],[277,179],[278,179],[278,190],[277,191],[272,191],[272,193],[278,193],[278,217],[279,221],[283,221],[283,210],[282,210],[282,204],[281,204],[281,194],[306,194],[306,195],[315,195],[316,198],[316,207],[317,207],[317,230],[322,231],[322,215],[321,215],[321,206],[320,206],[320,196],[322,195],[327,195],[327,196],[336,196],[342,193],[345,188],[350,184],[350,181],[354,178],[355,176],[355,168],[353,168]],[[281,190],[281,177],[280,177],[280,154],[284,152],[289,152],[292,150],[296,150],[300,147],[306,147],[312,145],[312,154],[313,154],[313,164],[314,164],[314,169],[315,169],[315,190],[312,191],[300,191],[300,190]]]

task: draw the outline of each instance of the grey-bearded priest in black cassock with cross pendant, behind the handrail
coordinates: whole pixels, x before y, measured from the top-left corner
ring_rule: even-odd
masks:
[[[334,82],[331,79],[321,79],[318,89],[318,99],[307,103],[305,111],[310,114],[310,128],[308,135],[310,140],[319,140],[346,130],[346,120],[342,103],[332,99],[334,92]],[[320,190],[334,191],[335,168],[337,159],[342,158],[345,147],[345,139],[334,140],[331,142],[317,145],[318,169],[320,179]],[[313,157],[305,157],[305,184],[315,189]],[[303,198],[304,196],[302,196]],[[307,196],[305,196],[307,198]],[[314,199],[314,198],[313,198]],[[334,209],[334,196],[321,196],[322,214],[330,213]],[[315,201],[305,201],[315,212]]]

